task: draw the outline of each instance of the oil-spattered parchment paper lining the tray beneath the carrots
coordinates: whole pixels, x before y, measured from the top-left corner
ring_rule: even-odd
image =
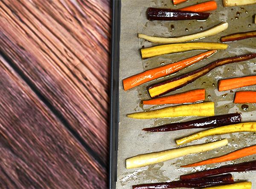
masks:
[[[117,189],[131,189],[132,185],[141,183],[155,183],[164,181],[174,181],[180,175],[195,172],[203,169],[209,169],[216,166],[241,163],[244,161],[252,161],[256,158],[251,155],[244,158],[239,158],[235,161],[228,161],[221,164],[213,164],[200,166],[199,168],[180,168],[180,165],[189,164],[195,161],[200,161],[214,156],[226,154],[228,152],[241,149],[250,145],[256,144],[256,133],[233,133],[226,135],[218,135],[202,138],[198,141],[191,142],[183,146],[201,144],[205,142],[215,141],[220,138],[228,138],[229,144],[226,147],[221,147],[209,152],[203,152],[196,155],[186,155],[181,158],[176,158],[160,164],[145,166],[137,169],[125,169],[125,159],[138,154],[156,152],[177,148],[175,139],[200,131],[199,129],[180,130],[174,132],[163,133],[147,133],[142,131],[144,127],[159,126],[162,124],[172,123],[175,121],[188,121],[195,119],[190,118],[161,118],[161,119],[132,119],[127,118],[128,113],[150,110],[153,107],[150,105],[142,106],[141,100],[149,99],[146,87],[156,82],[179,76],[183,73],[201,68],[216,59],[230,57],[235,55],[256,53],[255,38],[244,39],[237,42],[228,43],[227,50],[218,51],[210,58],[195,63],[188,68],[183,69],[175,74],[158,79],[157,81],[149,82],[132,90],[124,91],[122,87],[122,79],[128,76],[140,73],[147,69],[155,68],[160,65],[165,65],[171,62],[184,59],[202,51],[191,51],[181,54],[171,54],[157,56],[150,59],[142,60],[140,48],[150,47],[156,44],[145,42],[144,39],[138,39],[137,34],[143,33],[152,36],[180,36],[192,34],[207,28],[211,28],[221,22],[228,22],[227,30],[212,37],[200,39],[198,42],[219,42],[221,36],[241,31],[256,30],[256,24],[253,24],[253,16],[256,6],[238,6],[223,8],[221,0],[217,0],[218,9],[211,11],[212,14],[205,22],[196,20],[182,21],[148,21],[146,19],[146,9],[148,7],[161,8],[181,8],[196,3],[205,2],[205,0],[191,0],[186,3],[181,3],[178,6],[173,6],[171,0],[122,0],[121,8],[121,36],[120,36],[120,68],[119,68],[119,147],[117,158]],[[180,93],[182,91],[205,88],[206,101],[215,102],[215,115],[224,113],[242,113],[242,121],[256,121],[256,104],[248,104],[248,110],[243,110],[241,104],[233,104],[233,98],[236,91],[239,90],[256,90],[256,86],[243,87],[233,91],[218,92],[218,80],[224,78],[232,78],[236,76],[247,76],[256,74],[256,60],[233,63],[219,68],[215,68],[209,74],[197,79],[192,84],[183,87],[180,90],[173,91],[169,94]],[[198,117],[199,118],[199,117]],[[204,129],[202,129],[204,130]],[[236,181],[251,181],[253,189],[256,189],[256,174],[255,172],[233,173]]]

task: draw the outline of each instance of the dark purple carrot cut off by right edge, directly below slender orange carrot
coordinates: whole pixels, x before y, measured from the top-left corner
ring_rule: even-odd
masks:
[[[256,170],[256,161],[244,162],[241,164],[233,164],[221,166],[215,169],[208,169],[205,171],[194,172],[189,175],[181,175],[180,180],[190,180],[195,178],[209,177],[213,175],[219,175],[227,172],[243,172],[243,171],[255,171]]]

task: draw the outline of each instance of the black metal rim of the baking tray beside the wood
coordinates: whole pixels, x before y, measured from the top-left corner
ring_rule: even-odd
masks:
[[[112,0],[109,188],[116,188],[119,126],[119,41],[121,0]]]

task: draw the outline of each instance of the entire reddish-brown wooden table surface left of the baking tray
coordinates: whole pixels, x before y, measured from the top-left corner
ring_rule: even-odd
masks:
[[[105,189],[110,0],[0,0],[0,188]]]

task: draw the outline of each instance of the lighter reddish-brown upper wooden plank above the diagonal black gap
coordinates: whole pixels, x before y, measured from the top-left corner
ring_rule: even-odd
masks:
[[[103,166],[110,17],[110,0],[0,1],[0,53]]]

